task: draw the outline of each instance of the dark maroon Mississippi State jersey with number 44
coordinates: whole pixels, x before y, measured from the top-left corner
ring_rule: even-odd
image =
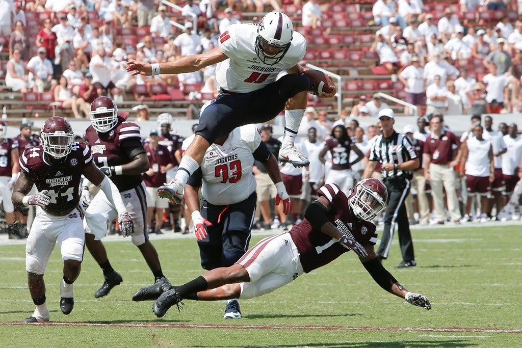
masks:
[[[20,170],[36,185],[38,191],[49,190],[46,195],[51,197],[51,202],[42,209],[63,216],[78,206],[81,174],[92,162],[92,153],[85,142],[73,142],[70,153],[53,163],[44,158],[40,145],[23,151],[18,162]]]

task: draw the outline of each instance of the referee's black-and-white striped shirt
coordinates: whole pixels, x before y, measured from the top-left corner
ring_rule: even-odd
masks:
[[[406,135],[399,134],[395,130],[393,134],[385,138],[379,135],[370,148],[370,161],[379,161],[382,164],[400,164],[417,158],[413,144]],[[411,171],[397,169],[395,171],[382,171],[383,179],[390,177],[411,178]]]

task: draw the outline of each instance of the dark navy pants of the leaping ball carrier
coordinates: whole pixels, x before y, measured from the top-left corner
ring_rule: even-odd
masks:
[[[256,91],[221,93],[201,114],[196,134],[213,143],[237,127],[267,122],[284,109],[290,98],[309,87],[308,78],[288,74]]]

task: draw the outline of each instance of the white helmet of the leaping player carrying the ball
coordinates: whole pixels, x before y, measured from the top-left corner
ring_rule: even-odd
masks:
[[[257,26],[255,44],[257,56],[268,65],[279,63],[290,48],[292,35],[293,25],[287,15],[277,11],[266,14]],[[266,52],[263,45],[276,47],[279,50],[276,53]]]

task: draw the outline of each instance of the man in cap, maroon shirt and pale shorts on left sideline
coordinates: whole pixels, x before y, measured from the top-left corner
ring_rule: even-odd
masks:
[[[156,129],[152,129],[149,135],[149,143],[144,146],[149,159],[149,170],[143,173],[143,181],[147,186],[147,233],[163,234],[161,223],[163,221],[163,209],[169,208],[169,201],[161,199],[157,195],[158,187],[167,182],[167,171],[174,167],[174,158],[169,148],[158,144],[159,135]],[[155,216],[156,229],[152,229],[152,217]]]

